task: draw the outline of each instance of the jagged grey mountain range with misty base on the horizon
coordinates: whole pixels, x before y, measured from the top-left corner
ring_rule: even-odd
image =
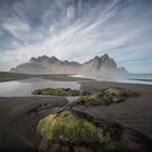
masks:
[[[31,58],[27,63],[11,68],[13,73],[29,74],[96,74],[96,73],[127,73],[124,67],[117,67],[116,62],[107,54],[94,56],[80,64],[78,62],[61,61],[55,56]]]

